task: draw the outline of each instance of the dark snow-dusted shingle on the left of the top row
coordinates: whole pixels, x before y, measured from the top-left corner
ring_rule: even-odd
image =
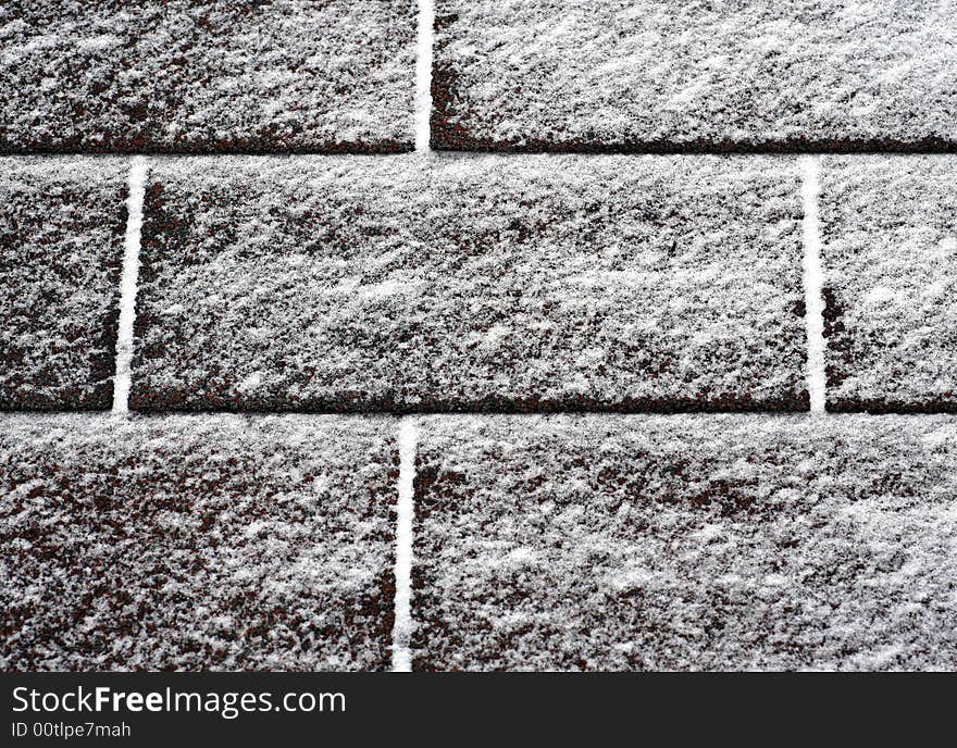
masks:
[[[13,0],[0,151],[397,151],[413,0]]]

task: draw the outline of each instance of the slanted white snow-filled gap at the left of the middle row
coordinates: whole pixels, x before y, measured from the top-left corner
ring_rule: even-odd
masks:
[[[113,379],[113,412],[129,411],[133,363],[133,323],[136,321],[136,285],[139,277],[139,242],[142,201],[146,195],[146,159],[134,157],[129,166],[126,199],[126,236],[123,240],[123,275],[120,278],[120,323],[116,334],[116,376]]]

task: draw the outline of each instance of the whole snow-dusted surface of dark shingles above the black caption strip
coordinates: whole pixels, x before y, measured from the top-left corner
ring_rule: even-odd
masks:
[[[0,670],[957,669],[955,185],[957,0],[0,3]]]

